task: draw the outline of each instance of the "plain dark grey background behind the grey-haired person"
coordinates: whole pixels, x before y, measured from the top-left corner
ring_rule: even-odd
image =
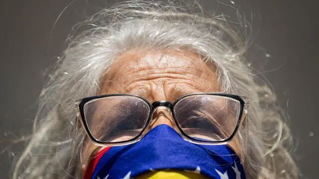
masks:
[[[206,7],[213,1],[203,0]],[[234,0],[241,9],[260,14],[254,43],[263,47],[263,74],[280,104],[289,112],[294,158],[305,179],[317,179],[319,161],[318,3],[315,0]],[[0,2],[0,178],[7,178],[12,160],[24,143],[12,144],[31,130],[44,70],[65,48],[71,27],[98,10],[102,0],[1,0]],[[83,11],[83,9],[86,9]],[[255,33],[257,34],[257,33]],[[265,55],[261,53],[262,55]]]

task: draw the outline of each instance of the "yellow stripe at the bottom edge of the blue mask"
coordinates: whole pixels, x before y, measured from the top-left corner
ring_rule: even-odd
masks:
[[[206,176],[184,171],[154,171],[142,174],[137,179],[209,179]]]

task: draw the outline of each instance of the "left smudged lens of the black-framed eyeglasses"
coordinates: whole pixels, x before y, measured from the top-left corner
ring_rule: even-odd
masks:
[[[92,136],[104,143],[128,141],[145,127],[150,106],[136,96],[108,96],[85,103],[84,116]]]

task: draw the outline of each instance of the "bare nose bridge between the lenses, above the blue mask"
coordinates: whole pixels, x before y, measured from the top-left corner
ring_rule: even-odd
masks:
[[[173,123],[173,117],[169,108],[164,106],[159,106],[155,108],[150,125],[151,129],[160,124],[166,124],[173,128]]]

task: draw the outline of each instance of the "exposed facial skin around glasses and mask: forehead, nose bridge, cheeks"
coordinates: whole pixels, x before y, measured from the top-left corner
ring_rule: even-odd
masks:
[[[214,65],[204,63],[192,52],[131,50],[119,55],[102,77],[100,93],[132,93],[151,103],[158,100],[174,102],[188,93],[220,91],[216,73]],[[159,124],[174,127],[171,113],[165,109],[156,110],[153,118],[155,123],[152,128]],[[240,156],[236,137],[228,145]],[[90,157],[102,149],[103,147],[95,146],[88,138],[85,139],[83,170]]]

